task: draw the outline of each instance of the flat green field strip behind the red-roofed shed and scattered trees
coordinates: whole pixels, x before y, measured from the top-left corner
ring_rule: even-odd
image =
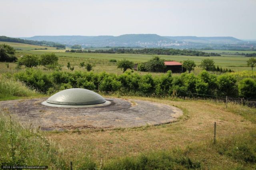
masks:
[[[47,53],[46,51],[20,51],[20,54],[35,54],[42,55]],[[60,61],[63,60],[76,60],[84,61],[88,59],[98,60],[99,63],[106,63],[110,59],[116,59],[117,61],[122,59],[128,59],[134,61],[134,63],[146,62],[152,58],[152,55],[133,55],[133,54],[98,54],[98,53],[56,53],[60,57]],[[213,59],[215,65],[222,66],[224,68],[230,68],[232,70],[250,70],[250,67],[247,67],[246,61],[250,57],[241,57],[241,56],[222,56],[222,57],[198,57],[198,56],[175,56],[175,55],[159,55],[162,59],[167,61],[184,61],[187,59],[195,61],[196,64],[200,64],[202,59]],[[64,63],[65,64],[65,63]],[[79,64],[79,63],[78,63]]]

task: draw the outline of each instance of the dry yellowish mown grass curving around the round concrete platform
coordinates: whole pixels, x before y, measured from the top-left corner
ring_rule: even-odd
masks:
[[[206,147],[212,143],[214,121],[217,123],[217,140],[242,135],[255,129],[256,119],[242,117],[237,112],[250,113],[255,116],[256,109],[207,101],[171,101],[167,99],[129,97],[150,100],[180,107],[184,116],[180,121],[160,126],[116,129],[107,131],[73,131],[48,132],[47,136],[62,148],[65,148],[66,159],[79,164],[80,157],[86,155],[96,160],[108,162],[109,159],[122,156],[134,156],[141,152],[187,148],[194,159],[204,160],[204,168],[229,169],[237,166],[234,160],[220,156],[216,151]],[[230,110],[236,109],[236,113]],[[239,113],[240,113],[239,112]],[[216,162],[218,160],[218,162]],[[246,165],[245,165],[246,166]],[[249,165],[248,165],[249,166]]]

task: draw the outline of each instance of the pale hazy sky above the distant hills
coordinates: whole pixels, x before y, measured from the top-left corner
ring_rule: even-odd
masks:
[[[256,39],[256,0],[0,0],[0,35]]]

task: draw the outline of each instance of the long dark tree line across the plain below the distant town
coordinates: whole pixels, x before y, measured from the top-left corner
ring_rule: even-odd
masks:
[[[161,49],[161,48],[145,48],[145,49],[108,49],[108,50],[66,50],[67,53],[117,53],[117,54],[149,54],[149,55],[187,55],[187,56],[221,56],[217,53],[205,53],[194,50],[180,50],[180,49]]]

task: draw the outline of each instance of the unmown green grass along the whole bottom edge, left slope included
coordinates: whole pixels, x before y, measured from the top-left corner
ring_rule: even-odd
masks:
[[[218,139],[216,145],[194,143],[186,148],[141,152],[96,163],[85,155],[73,160],[77,170],[146,170],[146,169],[230,169],[256,168],[256,129]],[[69,169],[72,158],[65,149],[46,138],[46,133],[31,125],[21,125],[8,110],[0,111],[0,165],[46,165],[49,169]],[[207,159],[206,159],[207,158]],[[220,160],[215,162],[214,160]]]

